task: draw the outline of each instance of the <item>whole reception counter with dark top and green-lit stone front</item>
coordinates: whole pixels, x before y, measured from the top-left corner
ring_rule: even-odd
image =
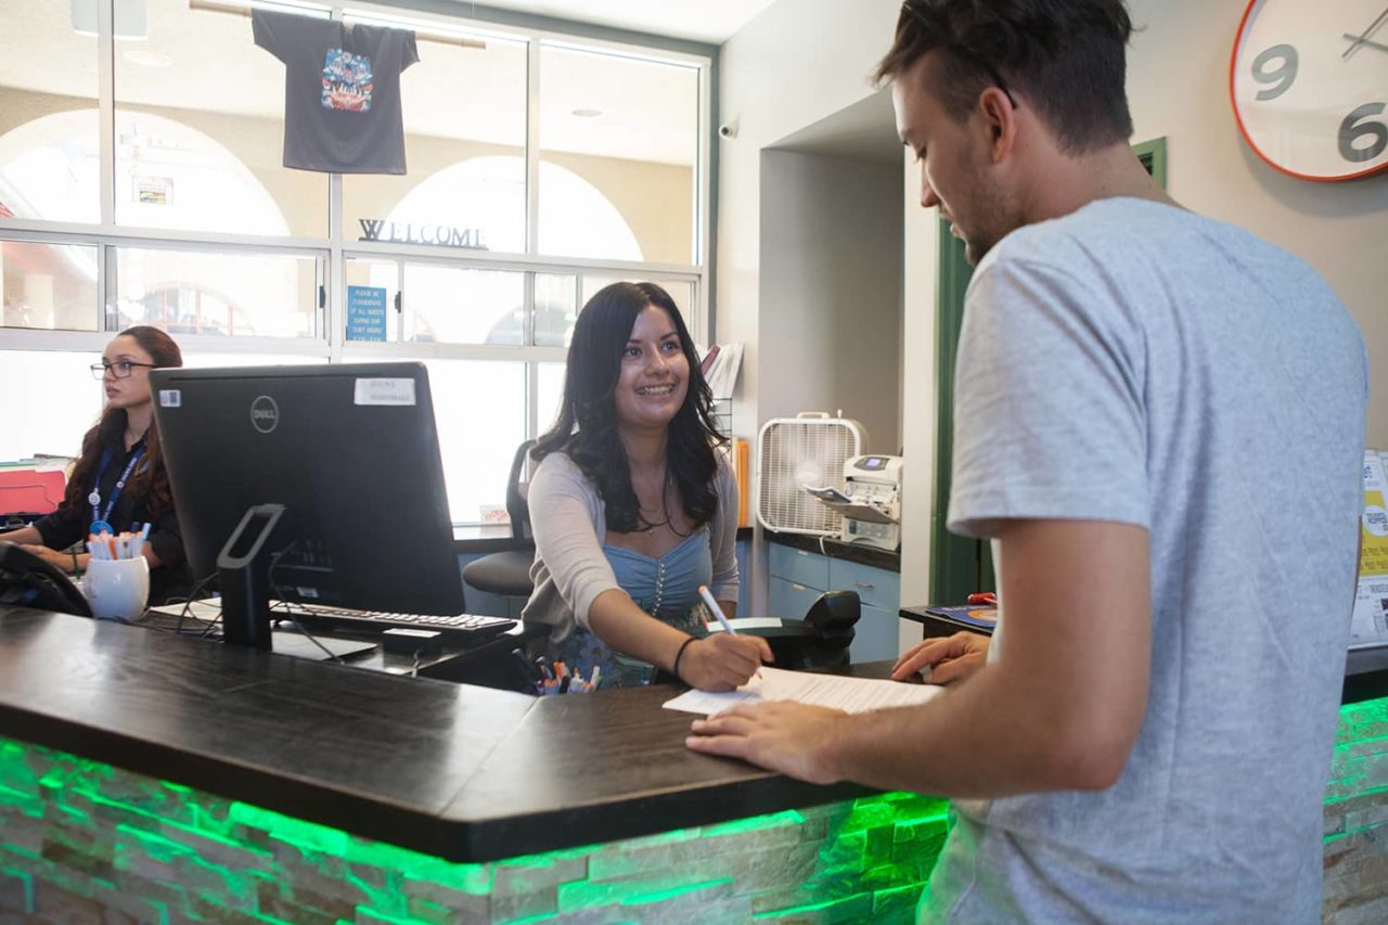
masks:
[[[911,921],[945,804],[533,699],[0,608],[0,918]],[[1326,917],[1388,917],[1388,701],[1342,710]],[[125,917],[125,918],[122,918]]]

